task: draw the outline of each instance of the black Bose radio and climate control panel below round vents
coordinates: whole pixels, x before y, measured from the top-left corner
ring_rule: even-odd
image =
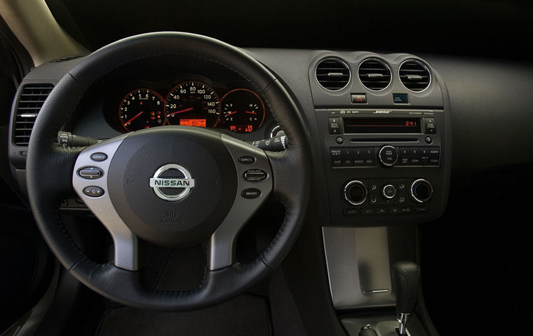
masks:
[[[445,202],[444,112],[316,109],[332,225],[436,219]]]

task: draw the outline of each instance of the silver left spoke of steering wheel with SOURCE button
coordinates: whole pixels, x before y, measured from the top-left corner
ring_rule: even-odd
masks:
[[[89,210],[111,234],[115,266],[135,271],[139,267],[137,236],[116,212],[107,184],[110,163],[124,137],[116,137],[84,149],[76,159],[72,185]]]

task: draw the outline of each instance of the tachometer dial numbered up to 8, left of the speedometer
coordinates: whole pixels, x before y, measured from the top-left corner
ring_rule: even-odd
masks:
[[[162,126],[166,123],[165,101],[154,90],[133,90],[121,100],[119,119],[128,132]]]

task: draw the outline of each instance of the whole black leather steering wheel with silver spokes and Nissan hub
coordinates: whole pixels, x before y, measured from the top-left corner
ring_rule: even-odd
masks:
[[[138,130],[90,147],[58,144],[58,130],[87,90],[124,65],[160,56],[214,62],[242,76],[269,105],[290,146],[268,152],[188,126]],[[267,276],[295,242],[309,201],[308,137],[287,90],[247,53],[196,34],[137,35],[88,55],[48,96],[29,142],[29,202],[55,256],[97,293],[142,309],[208,307]],[[90,260],[60,221],[58,204],[76,194],[111,234],[112,262]],[[236,236],[268,197],[285,206],[283,224],[255,261],[240,264],[235,259]],[[142,281],[140,239],[158,246],[206,243],[208,262],[201,285],[173,292],[150,288]]]

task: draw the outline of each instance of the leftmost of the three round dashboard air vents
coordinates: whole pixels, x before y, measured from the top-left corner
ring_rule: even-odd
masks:
[[[337,58],[326,58],[316,66],[316,80],[326,90],[338,91],[346,88],[350,76],[348,65]]]

